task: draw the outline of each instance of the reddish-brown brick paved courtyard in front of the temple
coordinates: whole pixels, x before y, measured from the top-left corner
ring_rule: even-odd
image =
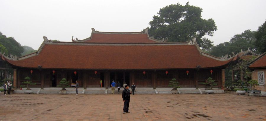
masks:
[[[236,94],[0,95],[0,120],[266,120],[266,97]]]

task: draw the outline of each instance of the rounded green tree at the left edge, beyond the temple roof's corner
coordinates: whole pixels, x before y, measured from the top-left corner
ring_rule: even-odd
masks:
[[[24,48],[13,37],[6,37],[0,32],[0,43],[4,45],[9,54],[21,56]]]

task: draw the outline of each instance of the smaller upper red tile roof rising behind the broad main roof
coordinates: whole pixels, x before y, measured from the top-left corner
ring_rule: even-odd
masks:
[[[97,42],[97,43],[156,43],[154,40],[148,39],[147,34],[141,33],[123,33],[118,34],[112,32],[111,34],[106,33],[92,33],[90,40],[83,42]]]

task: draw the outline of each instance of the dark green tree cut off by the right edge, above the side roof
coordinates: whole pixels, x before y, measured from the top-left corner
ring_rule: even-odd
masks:
[[[258,28],[255,45],[258,52],[266,52],[266,21]]]

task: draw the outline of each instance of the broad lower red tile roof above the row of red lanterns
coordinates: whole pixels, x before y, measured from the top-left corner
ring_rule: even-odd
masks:
[[[221,61],[201,55],[196,45],[53,43],[45,44],[38,55],[5,60],[25,68],[170,69],[217,67],[232,59]]]

